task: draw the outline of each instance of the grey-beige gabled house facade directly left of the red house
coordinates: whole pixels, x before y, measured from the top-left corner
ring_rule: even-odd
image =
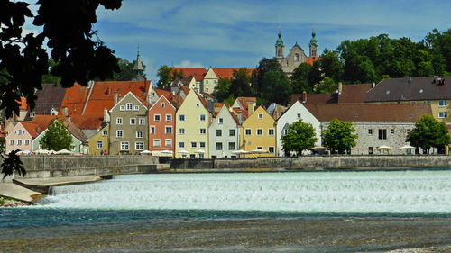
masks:
[[[147,107],[132,92],[110,110],[108,154],[139,154],[148,149]]]

